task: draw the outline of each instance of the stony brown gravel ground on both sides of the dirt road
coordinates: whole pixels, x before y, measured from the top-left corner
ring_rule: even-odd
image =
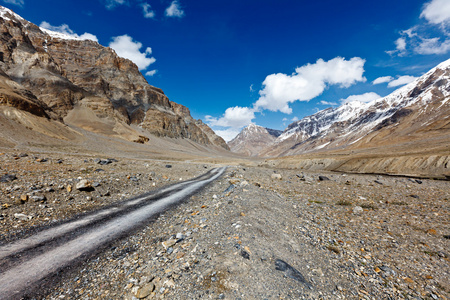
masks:
[[[0,156],[0,175],[17,176],[0,183],[4,241],[212,167],[18,156]],[[83,179],[91,191],[76,189]],[[231,166],[37,298],[448,299],[448,187],[447,181]]]

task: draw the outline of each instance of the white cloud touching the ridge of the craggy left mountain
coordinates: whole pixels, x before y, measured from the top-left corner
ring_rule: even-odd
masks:
[[[152,54],[152,48],[147,47],[144,52],[141,52],[142,43],[133,41],[126,34],[113,37],[113,41],[109,43],[109,47],[114,49],[117,55],[134,62],[139,70],[147,69],[148,66],[156,61],[154,57],[149,57]]]

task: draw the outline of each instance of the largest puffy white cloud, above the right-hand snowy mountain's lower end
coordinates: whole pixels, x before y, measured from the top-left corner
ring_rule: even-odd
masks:
[[[327,62],[319,59],[314,64],[296,68],[292,75],[271,74],[264,80],[264,88],[254,107],[290,114],[289,103],[309,101],[322,94],[327,85],[345,88],[358,81],[364,82],[364,63],[359,57],[350,60],[336,57]]]

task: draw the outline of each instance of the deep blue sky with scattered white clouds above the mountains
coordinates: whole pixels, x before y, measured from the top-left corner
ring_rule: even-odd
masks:
[[[0,0],[129,58],[225,140],[386,96],[450,58],[450,0]]]

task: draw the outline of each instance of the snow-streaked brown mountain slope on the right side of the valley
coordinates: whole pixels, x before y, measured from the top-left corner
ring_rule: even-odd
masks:
[[[386,97],[369,103],[348,102],[294,122],[257,155],[450,140],[449,99],[450,59]]]

